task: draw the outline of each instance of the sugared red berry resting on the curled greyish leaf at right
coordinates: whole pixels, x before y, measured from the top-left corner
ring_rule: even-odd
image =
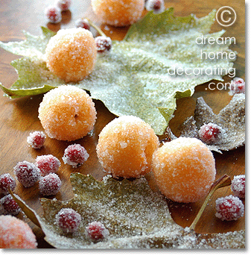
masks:
[[[219,140],[223,139],[225,134],[226,131],[223,128],[212,122],[201,126],[199,130],[199,138],[206,144],[218,143]]]

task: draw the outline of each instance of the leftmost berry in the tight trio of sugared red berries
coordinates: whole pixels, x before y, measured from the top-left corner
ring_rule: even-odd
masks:
[[[25,187],[33,186],[40,178],[39,169],[28,161],[17,163],[14,172],[17,180]]]

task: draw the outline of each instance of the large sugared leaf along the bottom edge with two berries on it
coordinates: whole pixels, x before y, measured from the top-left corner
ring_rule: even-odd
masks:
[[[58,249],[213,249],[244,248],[245,232],[196,234],[171,218],[163,196],[150,189],[145,178],[115,181],[110,175],[96,181],[91,175],[71,175],[74,197],[69,201],[41,199],[43,216],[38,216],[14,199],[25,214],[45,233],[45,240]],[[55,216],[70,207],[82,220],[73,234],[64,233]],[[102,222],[109,230],[105,240],[93,243],[86,237],[89,222]]]

